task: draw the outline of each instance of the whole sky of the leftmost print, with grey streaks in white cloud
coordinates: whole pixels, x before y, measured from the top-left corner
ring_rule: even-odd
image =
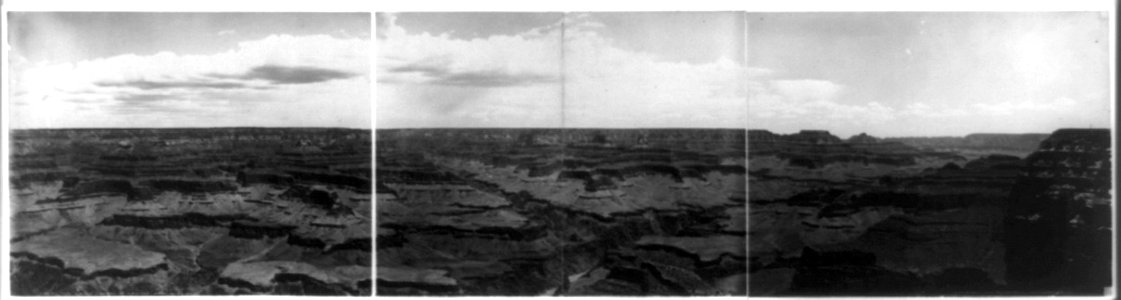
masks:
[[[10,12],[11,126],[369,129],[369,13]]]

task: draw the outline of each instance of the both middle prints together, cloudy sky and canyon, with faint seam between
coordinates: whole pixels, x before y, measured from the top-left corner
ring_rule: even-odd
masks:
[[[377,19],[378,294],[745,294],[743,13]]]

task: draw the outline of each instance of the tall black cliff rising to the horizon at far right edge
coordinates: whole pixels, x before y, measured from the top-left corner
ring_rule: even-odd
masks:
[[[1017,289],[1101,294],[1111,284],[1110,134],[1058,130],[1025,159],[1006,218],[1008,275]]]

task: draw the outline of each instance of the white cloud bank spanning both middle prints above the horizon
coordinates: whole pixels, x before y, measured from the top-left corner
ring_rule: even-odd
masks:
[[[626,49],[600,34],[608,28],[594,16],[569,13],[563,26],[471,39],[414,32],[393,15],[378,17],[379,126],[745,123],[744,66]]]

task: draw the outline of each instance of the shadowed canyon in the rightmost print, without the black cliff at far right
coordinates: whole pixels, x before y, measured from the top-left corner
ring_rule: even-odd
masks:
[[[910,144],[751,131],[750,293],[1007,289],[1006,209],[1025,160]]]

